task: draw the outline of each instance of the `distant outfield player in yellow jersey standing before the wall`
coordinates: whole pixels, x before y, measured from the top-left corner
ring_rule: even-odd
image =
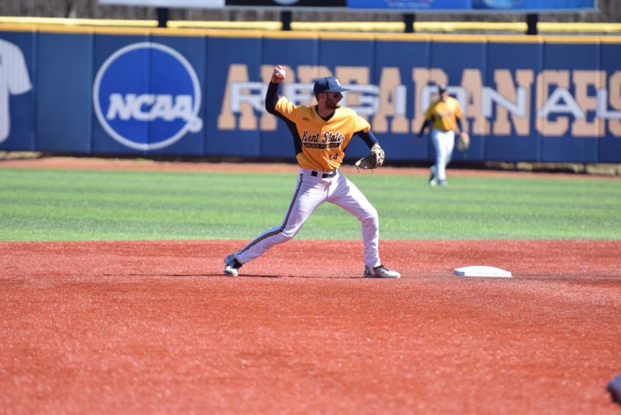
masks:
[[[455,129],[459,128],[460,135],[467,136],[462,128],[462,108],[457,99],[449,97],[446,85],[437,87],[440,99],[435,100],[427,108],[425,121],[420,128],[418,137],[422,137],[425,128],[431,124],[431,142],[435,148],[435,164],[431,166],[429,184],[446,186],[446,166],[451,162],[453,147],[455,146]]]

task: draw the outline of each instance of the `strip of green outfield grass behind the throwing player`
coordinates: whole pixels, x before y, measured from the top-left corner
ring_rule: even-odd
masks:
[[[382,239],[621,239],[621,181],[349,175],[380,212]],[[242,239],[282,221],[291,173],[0,168],[0,240]],[[357,239],[323,204],[297,238]]]

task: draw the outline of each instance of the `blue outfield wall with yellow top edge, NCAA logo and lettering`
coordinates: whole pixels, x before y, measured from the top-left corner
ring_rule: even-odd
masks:
[[[293,157],[263,108],[311,104],[337,76],[388,160],[433,160],[417,142],[437,83],[465,108],[454,160],[621,162],[621,37],[526,37],[56,28],[0,24],[0,150]],[[347,155],[367,152],[353,140]]]

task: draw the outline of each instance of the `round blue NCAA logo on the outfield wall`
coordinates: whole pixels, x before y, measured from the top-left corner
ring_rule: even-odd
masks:
[[[162,44],[140,42],[110,55],[95,77],[92,99],[106,133],[137,150],[164,148],[203,128],[194,68]]]

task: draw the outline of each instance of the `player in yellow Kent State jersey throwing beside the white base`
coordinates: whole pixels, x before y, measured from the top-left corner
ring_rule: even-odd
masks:
[[[400,278],[400,273],[386,269],[380,261],[378,244],[380,222],[377,211],[358,188],[341,173],[344,151],[354,135],[369,148],[380,149],[371,126],[350,108],[341,108],[343,88],[335,77],[318,79],[313,86],[315,106],[297,106],[279,97],[279,84],[286,77],[276,66],[270,79],[265,108],[282,119],[293,135],[295,157],[299,164],[297,184],[284,220],[235,253],[224,259],[224,273],[237,276],[242,264],[265,253],[275,244],[293,238],[317,206],[331,202],[354,215],[362,224],[364,273],[367,278]],[[383,153],[383,152],[382,152]]]

